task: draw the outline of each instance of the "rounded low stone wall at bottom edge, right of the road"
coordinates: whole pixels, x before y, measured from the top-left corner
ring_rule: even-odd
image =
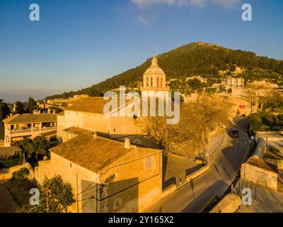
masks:
[[[240,196],[227,194],[209,213],[235,213],[241,204]]]

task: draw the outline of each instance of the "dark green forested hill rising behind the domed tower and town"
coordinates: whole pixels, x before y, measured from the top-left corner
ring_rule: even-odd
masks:
[[[121,85],[126,87],[137,87],[142,81],[142,75],[151,65],[151,59],[142,65],[127,70],[115,77],[106,79],[104,82],[92,87],[81,89],[78,92],[69,92],[47,97],[47,99],[67,98],[74,94],[89,94],[90,96],[101,96],[104,92],[116,89]],[[244,69],[238,76],[246,80],[273,79],[282,83],[283,61],[258,57],[254,52],[242,50],[231,50],[219,45],[209,43],[190,43],[180,48],[158,55],[158,65],[164,70],[167,79],[185,79],[195,74],[202,77],[227,76],[236,70],[236,67]],[[221,71],[226,71],[223,74]]]

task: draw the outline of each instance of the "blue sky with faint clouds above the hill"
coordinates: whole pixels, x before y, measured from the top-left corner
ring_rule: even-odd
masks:
[[[242,20],[244,3],[253,21]],[[1,0],[0,99],[90,87],[152,57],[156,42],[158,53],[204,41],[283,59],[282,9],[282,0]]]

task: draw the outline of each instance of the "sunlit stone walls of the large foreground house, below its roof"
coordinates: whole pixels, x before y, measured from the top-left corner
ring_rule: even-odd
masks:
[[[70,212],[141,212],[161,199],[162,154],[150,156],[150,169],[146,167],[148,156],[133,150],[98,174],[51,153],[51,160],[35,168],[35,179],[42,183],[45,177],[60,175],[69,182],[78,195]],[[102,185],[111,177],[107,185]]]

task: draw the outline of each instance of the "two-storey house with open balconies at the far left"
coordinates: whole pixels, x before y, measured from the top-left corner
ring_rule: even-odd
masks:
[[[45,135],[47,138],[57,135],[56,114],[15,114],[3,120],[5,126],[5,147],[10,147],[24,138]]]

